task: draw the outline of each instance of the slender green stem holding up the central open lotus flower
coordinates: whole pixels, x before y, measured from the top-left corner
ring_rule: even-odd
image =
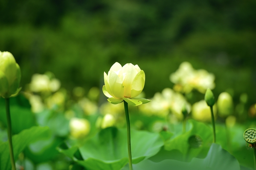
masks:
[[[128,111],[128,103],[124,101],[125,105],[125,117],[127,124],[127,146],[128,146],[128,156],[129,156],[129,169],[132,170],[132,159],[131,159],[131,127],[130,127],[130,118]]]

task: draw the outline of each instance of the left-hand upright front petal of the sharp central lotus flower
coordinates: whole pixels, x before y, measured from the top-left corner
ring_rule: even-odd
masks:
[[[108,83],[110,90],[115,98],[123,98],[124,94],[124,85],[122,84],[121,79],[114,71],[108,72]],[[112,95],[111,94],[111,95]]]

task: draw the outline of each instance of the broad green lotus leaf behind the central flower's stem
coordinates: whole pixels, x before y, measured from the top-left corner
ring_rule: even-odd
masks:
[[[133,163],[155,155],[163,146],[158,133],[131,130],[131,153]],[[126,129],[108,127],[79,147],[82,160],[75,159],[76,147],[61,147],[61,152],[88,170],[120,170],[128,164]]]

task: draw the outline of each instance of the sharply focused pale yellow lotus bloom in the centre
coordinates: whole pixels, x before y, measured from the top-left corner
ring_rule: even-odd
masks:
[[[123,100],[133,106],[150,102],[148,99],[135,98],[142,92],[145,84],[145,73],[138,65],[128,63],[122,67],[116,62],[108,74],[104,72],[104,82],[102,91],[112,104]]]

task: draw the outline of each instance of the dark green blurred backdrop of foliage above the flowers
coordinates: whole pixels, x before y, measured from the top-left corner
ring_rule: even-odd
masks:
[[[22,71],[51,71],[61,86],[102,88],[114,62],[145,71],[145,94],[172,88],[188,61],[215,74],[218,95],[256,96],[255,0],[0,0],[0,51]],[[231,90],[230,90],[231,89]]]

